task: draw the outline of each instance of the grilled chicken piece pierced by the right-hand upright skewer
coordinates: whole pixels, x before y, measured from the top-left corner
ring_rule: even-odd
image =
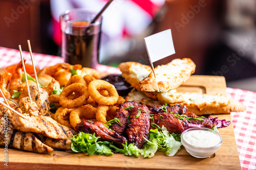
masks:
[[[38,111],[42,116],[50,116],[50,105],[48,92],[42,88],[37,90],[36,86],[31,85],[29,87],[31,99],[36,103]]]

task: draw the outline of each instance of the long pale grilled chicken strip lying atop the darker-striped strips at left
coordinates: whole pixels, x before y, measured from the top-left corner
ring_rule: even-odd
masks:
[[[17,108],[19,113],[22,111]],[[69,139],[74,134],[74,130],[57,123],[48,116],[27,116],[28,120],[14,114],[11,121],[15,129],[22,132],[42,133],[53,139]]]

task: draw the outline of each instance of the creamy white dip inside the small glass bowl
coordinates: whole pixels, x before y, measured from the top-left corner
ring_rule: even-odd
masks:
[[[216,134],[202,130],[188,131],[183,135],[183,138],[188,144],[200,148],[214,147],[221,141]]]

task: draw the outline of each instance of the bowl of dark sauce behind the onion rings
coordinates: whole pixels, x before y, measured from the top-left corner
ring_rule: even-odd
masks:
[[[127,96],[127,94],[133,89],[131,84],[126,82],[126,80],[121,75],[118,75],[118,74],[104,76],[101,78],[101,80],[104,80],[113,84],[118,94],[122,97]]]

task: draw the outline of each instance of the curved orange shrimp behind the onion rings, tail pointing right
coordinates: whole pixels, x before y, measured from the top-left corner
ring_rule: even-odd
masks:
[[[50,67],[45,67],[45,68],[41,69],[37,74],[38,82],[42,86],[48,86],[48,84],[51,83],[52,79],[54,78],[54,75],[56,74],[56,72],[59,69],[63,69],[63,70],[70,72],[70,68],[80,69],[81,67],[82,66],[79,64],[73,66],[68,63],[60,63],[60,64],[56,64],[56,65],[53,65]],[[59,88],[60,83],[58,81],[56,81],[54,86]]]

